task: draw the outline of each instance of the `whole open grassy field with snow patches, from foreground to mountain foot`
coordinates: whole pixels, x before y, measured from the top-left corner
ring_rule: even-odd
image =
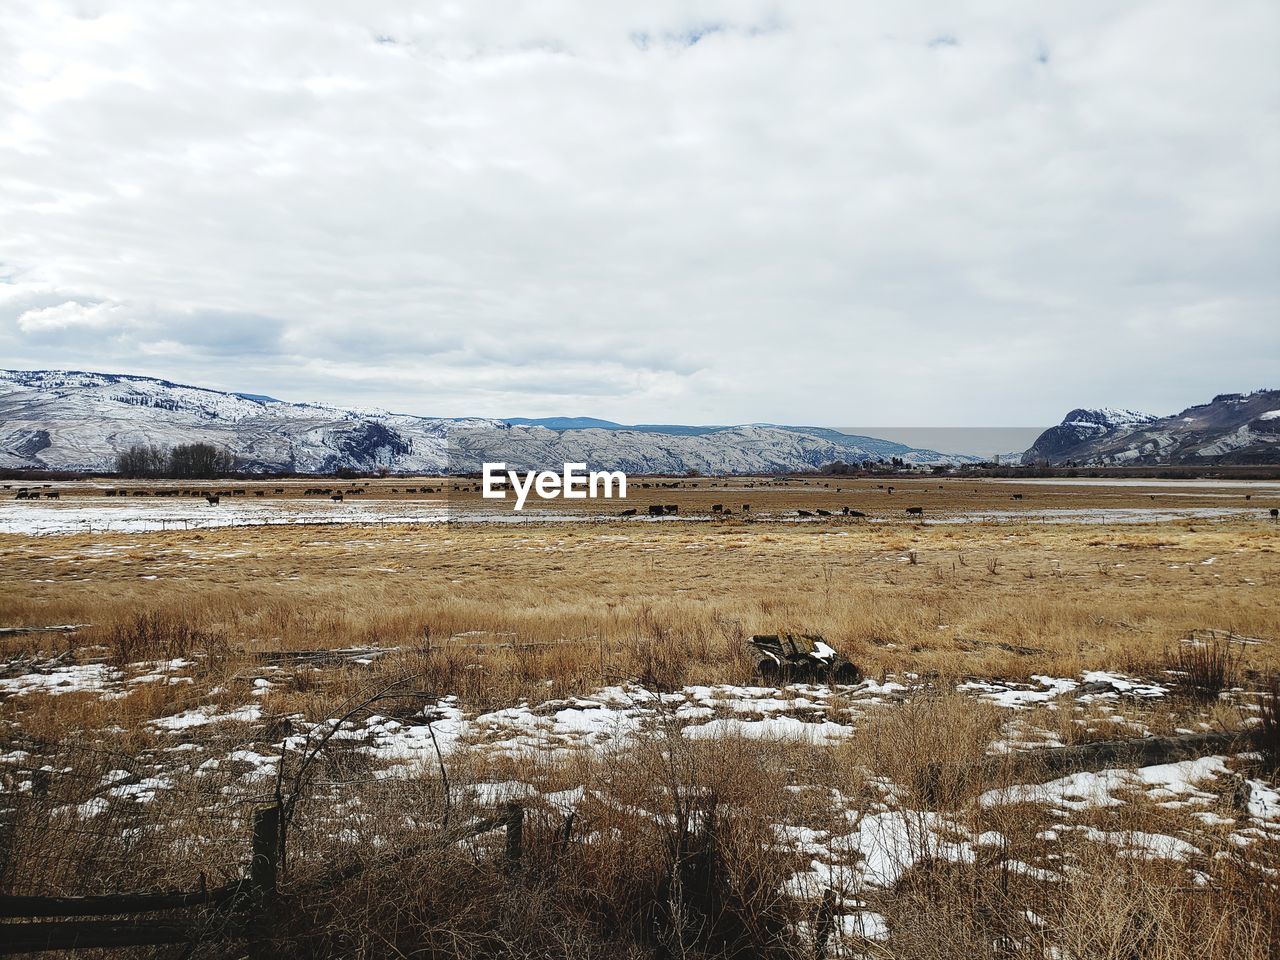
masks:
[[[448,522],[0,532],[0,627],[78,625],[0,634],[0,892],[232,879],[279,796],[274,955],[1275,955],[1280,489],[682,483],[593,522],[401,477],[324,508]],[[0,530],[146,499],[59,486]],[[649,503],[678,520],[604,516]],[[780,631],[864,678],[762,684]],[[1039,759],[1206,732],[1252,739]],[[463,829],[508,801],[518,872]]]

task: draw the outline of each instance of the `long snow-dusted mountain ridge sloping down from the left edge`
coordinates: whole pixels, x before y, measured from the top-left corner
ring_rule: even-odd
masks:
[[[0,371],[0,467],[6,468],[109,471],[133,444],[196,442],[229,449],[246,470],[301,474],[379,467],[457,472],[477,470],[484,461],[509,468],[585,462],[631,472],[754,474],[890,457],[908,463],[972,460],[819,428],[591,422],[552,429],[536,421],[287,403],[146,376]]]

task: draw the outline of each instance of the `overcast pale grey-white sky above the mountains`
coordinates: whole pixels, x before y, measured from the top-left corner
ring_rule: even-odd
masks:
[[[1280,387],[1280,4],[6,0],[0,367],[1027,426]]]

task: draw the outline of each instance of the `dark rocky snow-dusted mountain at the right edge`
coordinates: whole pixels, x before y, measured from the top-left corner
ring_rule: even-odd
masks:
[[[1280,390],[1224,393],[1180,413],[1155,417],[1073,410],[1046,430],[1024,463],[1149,466],[1280,462]]]

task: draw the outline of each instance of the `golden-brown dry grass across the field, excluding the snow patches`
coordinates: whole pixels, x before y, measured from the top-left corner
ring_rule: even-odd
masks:
[[[840,495],[846,493],[872,495],[869,489]],[[718,488],[681,497],[694,502],[704,494],[728,499]],[[923,500],[925,488],[914,495]],[[995,502],[997,494],[973,495]],[[751,489],[744,499],[760,497]],[[836,495],[792,489],[785,497]],[[1004,504],[1006,493],[998,497]],[[1074,502],[1055,500],[1068,503]],[[1258,868],[1267,858],[1280,863],[1274,836],[1257,841],[1252,859],[1225,828],[1215,846],[1198,840],[1192,865],[1207,881],[1197,886],[1187,881],[1184,865],[1126,858],[1084,831],[1073,832],[1207,836],[1187,810],[1134,795],[1068,823],[1041,806],[983,805],[984,791],[1007,783],[1000,773],[975,777],[975,762],[995,741],[1016,733],[1007,712],[952,691],[963,678],[1025,681],[1088,669],[1165,682],[1172,680],[1169,671],[1180,672],[1206,695],[1236,681],[1253,685],[1251,677],[1280,669],[1275,553],[1274,531],[1243,521],[1155,527],[451,525],[0,536],[0,623],[91,625],[69,636],[0,637],[6,655],[100,659],[127,677],[160,669],[134,666],[141,660],[191,662],[180,671],[191,682],[127,684],[118,699],[10,696],[0,703],[0,723],[37,754],[44,748],[33,744],[83,740],[127,765],[172,768],[182,754],[172,753],[173,741],[147,721],[197,705],[253,703],[265,718],[191,731],[197,760],[219,750],[270,753],[289,730],[340,716],[396,677],[412,677],[416,699],[403,704],[406,716],[445,696],[495,709],[572,698],[621,678],[640,678],[654,690],[742,684],[755,662],[748,636],[819,632],[870,677],[919,678],[905,700],[868,712],[854,735],[835,745],[695,741],[680,735],[673,717],[659,718],[630,748],[607,753],[511,755],[477,744],[449,758],[453,799],[447,804],[436,769],[378,777],[367,754],[334,741],[301,794],[285,909],[264,952],[813,956],[818,904],[782,895],[783,882],[804,870],[808,858],[782,844],[774,824],[835,837],[864,818],[902,809],[945,818],[957,838],[996,832],[1002,842],[975,846],[968,861],[916,850],[914,865],[891,888],[846,891],[841,909],[874,910],[891,931],[887,943],[858,947],[867,956],[1030,957],[1047,955],[1052,945],[1061,956],[1102,960],[1261,960],[1275,954],[1280,929],[1268,897],[1274,878]],[[1210,557],[1217,559],[1206,564]],[[1175,646],[1206,628],[1261,643]],[[279,669],[262,659],[269,652],[333,648],[387,653],[367,664],[285,663]],[[256,690],[264,677],[270,689]],[[1272,690],[1263,698],[1262,723],[1272,742],[1277,695]],[[378,705],[384,716],[402,716],[401,709]],[[1240,709],[1226,700],[1157,701],[1119,717],[1114,705],[1064,699],[1018,719],[1070,744],[1132,736],[1129,724],[1157,733],[1199,722],[1234,727]],[[79,760],[58,763],[72,768]],[[27,846],[10,835],[8,850],[32,856],[31,844],[50,836],[32,824],[51,823],[52,810],[92,799],[114,760],[83,763],[82,792],[24,809]],[[196,836],[183,817],[200,808],[192,801],[183,812],[177,803],[183,797],[214,795],[224,806],[239,805],[234,817],[210,819],[200,836],[207,849],[233,851],[223,863],[242,861],[236,851],[243,852],[243,813],[270,785],[242,781],[230,762],[212,774],[197,769],[193,760],[187,773],[174,774],[175,801],[147,812],[157,829],[148,835],[146,849],[154,852],[146,869],[116,858],[102,883],[196,881],[205,860],[191,850],[179,854],[174,844],[183,829]],[[479,801],[465,799],[470,786],[512,781],[541,791],[584,790],[567,844],[563,814],[531,806],[525,861],[516,873],[492,856],[500,837],[463,842],[448,826],[481,812]],[[1235,815],[1226,795],[1215,809]],[[1064,826],[1071,829],[1061,829],[1050,846],[1044,832]],[[413,845],[412,855],[388,861],[389,851]],[[68,859],[101,861],[90,852],[68,849]],[[102,854],[116,856],[119,846],[108,844]],[[351,864],[365,869],[317,886]],[[10,856],[6,882],[18,867]],[[67,890],[83,890],[84,882],[73,873],[50,879]],[[234,954],[216,945],[201,951]]]

